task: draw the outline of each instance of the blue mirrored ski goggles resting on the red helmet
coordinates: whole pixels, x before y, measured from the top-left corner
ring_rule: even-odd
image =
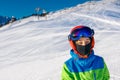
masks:
[[[81,37],[92,37],[94,35],[94,30],[90,29],[89,27],[78,28],[68,36],[68,39],[76,41],[79,40]]]

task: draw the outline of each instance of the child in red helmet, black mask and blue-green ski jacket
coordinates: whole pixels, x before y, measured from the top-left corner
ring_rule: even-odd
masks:
[[[94,30],[76,26],[68,36],[72,58],[63,64],[62,80],[109,80],[104,59],[94,54]]]

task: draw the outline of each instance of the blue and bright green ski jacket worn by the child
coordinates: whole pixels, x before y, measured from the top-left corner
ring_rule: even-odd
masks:
[[[109,71],[102,57],[92,52],[83,59],[78,58],[73,50],[70,53],[72,58],[63,65],[62,80],[109,80]]]

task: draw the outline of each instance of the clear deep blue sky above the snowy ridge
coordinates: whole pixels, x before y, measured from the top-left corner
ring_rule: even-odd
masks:
[[[90,0],[0,0],[0,15],[21,18],[35,13],[37,7],[50,12],[72,7],[86,1]]]

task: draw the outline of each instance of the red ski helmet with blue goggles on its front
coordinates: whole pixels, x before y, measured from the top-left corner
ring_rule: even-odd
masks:
[[[71,29],[70,34],[68,35],[68,40],[70,43],[70,46],[75,51],[76,54],[81,54],[77,51],[76,45],[74,42],[76,40],[79,40],[81,37],[89,37],[91,39],[91,51],[94,47],[95,41],[94,41],[94,30],[87,27],[87,26],[76,26]]]

